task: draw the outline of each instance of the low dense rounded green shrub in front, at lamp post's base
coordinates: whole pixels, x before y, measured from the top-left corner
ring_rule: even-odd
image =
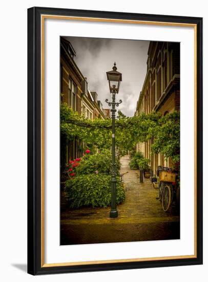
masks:
[[[70,208],[107,207],[111,204],[111,176],[100,173],[76,176],[67,180],[65,193]],[[117,177],[116,203],[120,204],[124,199],[124,189]]]

